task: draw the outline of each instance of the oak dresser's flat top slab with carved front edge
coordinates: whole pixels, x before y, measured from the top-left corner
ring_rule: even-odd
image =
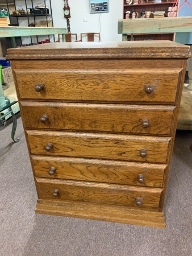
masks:
[[[169,40],[47,43],[8,49],[7,59],[187,58],[191,55],[189,48],[189,46]]]

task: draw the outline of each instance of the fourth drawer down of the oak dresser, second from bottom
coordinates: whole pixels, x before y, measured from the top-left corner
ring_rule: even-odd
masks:
[[[31,156],[36,177],[162,187],[165,164]]]

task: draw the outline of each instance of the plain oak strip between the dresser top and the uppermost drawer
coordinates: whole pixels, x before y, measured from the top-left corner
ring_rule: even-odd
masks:
[[[40,70],[49,70],[51,67],[57,67],[57,70],[69,70],[69,69],[93,69],[93,70],[106,70],[106,69],[114,69],[118,71],[122,71],[122,69],[134,70],[138,69],[138,67],[153,69],[181,69],[183,67],[182,59],[59,59],[59,60],[51,60],[51,67],[49,61],[44,60],[11,60],[11,67],[16,71],[27,69],[30,67],[31,71]],[[139,68],[140,69],[140,68]]]

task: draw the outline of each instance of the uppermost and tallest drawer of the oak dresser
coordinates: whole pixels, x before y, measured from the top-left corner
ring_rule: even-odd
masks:
[[[16,70],[21,99],[175,102],[181,69]],[[43,84],[44,88],[35,86]]]

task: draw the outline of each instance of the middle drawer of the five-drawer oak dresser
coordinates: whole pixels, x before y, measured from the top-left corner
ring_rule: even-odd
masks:
[[[32,154],[166,163],[168,137],[27,130]]]

